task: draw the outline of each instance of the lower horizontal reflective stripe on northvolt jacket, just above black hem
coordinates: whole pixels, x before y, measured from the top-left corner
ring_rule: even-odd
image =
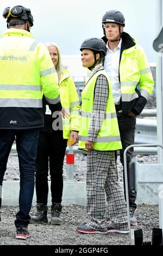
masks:
[[[41,108],[42,100],[38,99],[1,99],[0,107],[34,107]]]

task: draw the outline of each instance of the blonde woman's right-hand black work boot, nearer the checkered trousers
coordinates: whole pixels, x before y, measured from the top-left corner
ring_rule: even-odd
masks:
[[[51,206],[51,216],[52,216],[51,224],[52,225],[62,224],[62,219],[60,218],[61,210],[62,210],[61,204],[52,203],[52,206]]]

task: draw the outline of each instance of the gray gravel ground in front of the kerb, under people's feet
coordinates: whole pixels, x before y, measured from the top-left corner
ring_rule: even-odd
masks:
[[[64,206],[62,219],[64,223],[57,225],[29,224],[31,237],[26,241],[16,240],[14,226],[17,206],[2,207],[2,222],[0,223],[0,245],[129,245],[129,234],[80,234],[76,227],[86,222],[86,208],[79,205]],[[32,206],[31,213],[34,214]],[[50,209],[48,210],[50,220]],[[134,229],[143,230],[143,242],[151,241],[152,228],[159,227],[158,206],[139,205],[136,210],[139,225]]]

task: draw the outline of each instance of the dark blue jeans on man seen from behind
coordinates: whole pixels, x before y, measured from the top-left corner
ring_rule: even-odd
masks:
[[[30,221],[29,212],[34,193],[35,160],[39,131],[40,129],[0,129],[0,186],[2,186],[10,150],[16,137],[16,149],[20,167],[20,210],[17,212],[15,220],[17,228],[27,227]]]

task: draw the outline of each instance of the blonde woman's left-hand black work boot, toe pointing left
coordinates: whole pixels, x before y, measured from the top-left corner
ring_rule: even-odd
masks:
[[[30,223],[32,224],[47,224],[47,205],[37,204],[36,212],[33,217],[30,219]]]

